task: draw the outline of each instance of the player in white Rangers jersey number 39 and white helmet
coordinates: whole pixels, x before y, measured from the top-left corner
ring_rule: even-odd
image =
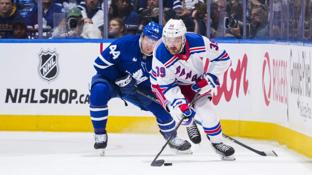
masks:
[[[153,51],[150,81],[152,91],[176,122],[185,115],[181,125],[195,125],[194,116],[199,117],[212,149],[222,160],[232,161],[235,151],[222,143],[221,125],[211,101],[211,90],[219,85],[218,77],[229,66],[228,54],[216,42],[186,33],[182,20],[170,19]],[[198,90],[199,95],[189,108],[188,103]]]

